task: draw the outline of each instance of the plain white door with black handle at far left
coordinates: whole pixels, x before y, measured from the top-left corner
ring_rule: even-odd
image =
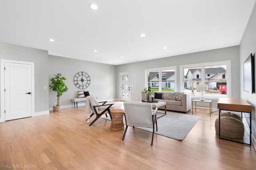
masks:
[[[31,65],[5,63],[5,120],[32,116]]]

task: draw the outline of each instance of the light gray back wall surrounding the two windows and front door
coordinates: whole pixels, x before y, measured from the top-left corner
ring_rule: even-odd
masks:
[[[207,63],[215,61],[227,61],[231,60],[231,72],[232,72],[232,97],[240,98],[240,72],[239,72],[239,46],[227,47],[222,49],[215,49],[209,51],[202,51],[198,53],[190,53],[185,55],[178,55],[173,57],[166,57],[162,59],[148,60],[137,63],[122,64],[116,68],[116,84],[119,84],[120,72],[131,72],[131,84],[132,100],[141,100],[141,91],[145,87],[145,69],[160,68],[168,66],[177,66],[177,91],[180,91],[180,65],[195,64],[195,63]],[[119,86],[116,88],[116,98],[120,96]],[[138,99],[136,99],[138,98]],[[213,107],[217,108],[217,100],[213,101]]]

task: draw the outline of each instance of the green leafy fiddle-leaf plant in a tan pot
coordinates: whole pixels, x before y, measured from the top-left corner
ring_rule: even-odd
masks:
[[[52,83],[49,84],[50,89],[52,89],[54,92],[57,92],[57,105],[53,106],[53,111],[60,111],[60,96],[62,96],[62,94],[68,90],[68,87],[64,83],[66,78],[63,77],[60,73],[56,75],[54,74],[54,76],[55,77],[51,79]]]

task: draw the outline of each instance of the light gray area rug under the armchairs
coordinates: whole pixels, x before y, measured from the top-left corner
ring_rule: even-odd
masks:
[[[160,115],[161,113],[158,113],[158,116]],[[109,115],[108,117],[106,115],[102,115],[101,117],[110,120]],[[183,140],[199,119],[200,116],[196,115],[175,112],[167,113],[167,115],[157,119],[158,131],[155,129],[155,133],[172,139]],[[152,128],[136,128],[152,132]]]

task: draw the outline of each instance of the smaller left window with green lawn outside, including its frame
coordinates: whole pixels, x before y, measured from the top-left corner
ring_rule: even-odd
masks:
[[[174,92],[176,89],[176,66],[145,70],[146,87],[152,91]]]

